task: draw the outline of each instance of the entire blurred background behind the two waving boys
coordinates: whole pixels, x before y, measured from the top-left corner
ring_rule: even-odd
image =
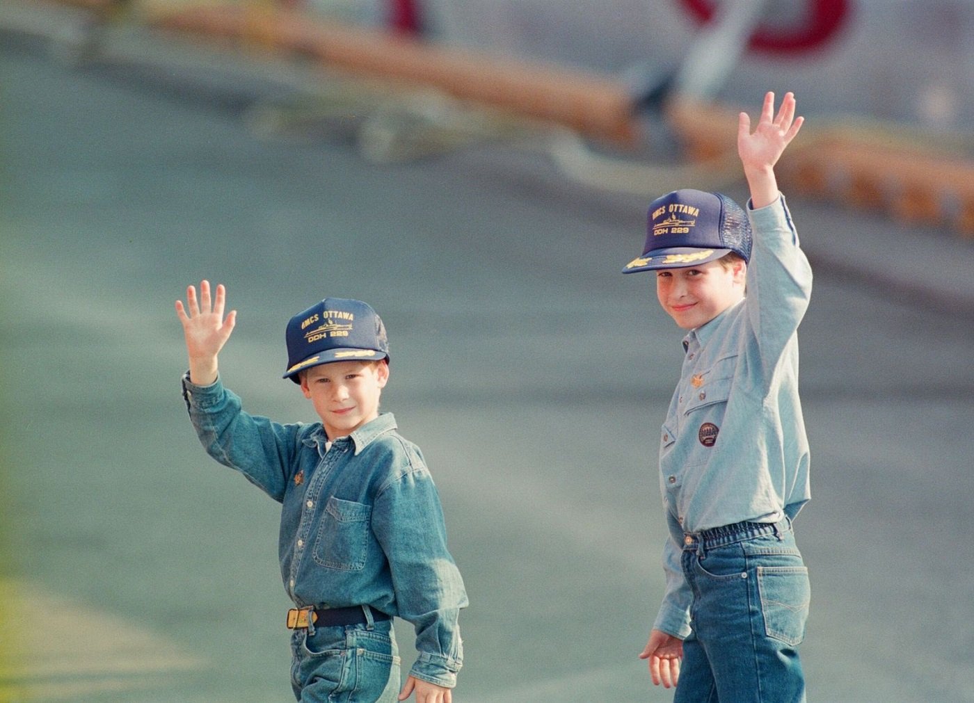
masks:
[[[637,654],[682,334],[619,272],[656,196],[746,199],[768,90],[807,120],[809,699],[974,700],[967,0],[5,0],[0,700],[292,698],[278,505],[179,397],[204,277],[282,422],[290,315],[383,316],[468,585],[454,700],[670,700]]]

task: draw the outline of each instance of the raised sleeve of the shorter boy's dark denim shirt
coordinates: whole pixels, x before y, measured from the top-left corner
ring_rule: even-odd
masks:
[[[183,400],[206,453],[236,469],[271,498],[281,502],[298,444],[299,425],[279,425],[244,412],[240,397],[219,378],[196,386],[182,379]]]

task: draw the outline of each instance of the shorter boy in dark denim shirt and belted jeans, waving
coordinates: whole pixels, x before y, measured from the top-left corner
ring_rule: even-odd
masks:
[[[176,302],[189,354],[183,397],[207,453],[281,502],[279,554],[299,701],[396,700],[393,615],[413,623],[419,657],[398,700],[450,703],[468,605],[446,548],[443,513],[419,448],[379,413],[389,381],[386,329],[368,305],[326,298],[287,324],[284,378],[320,423],[251,416],[223,387],[217,354],[237,321],[209,283]]]

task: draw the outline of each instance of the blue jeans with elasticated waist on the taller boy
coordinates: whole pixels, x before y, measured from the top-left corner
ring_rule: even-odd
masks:
[[[808,570],[788,520],[738,523],[684,540],[691,627],[674,703],[805,701]]]

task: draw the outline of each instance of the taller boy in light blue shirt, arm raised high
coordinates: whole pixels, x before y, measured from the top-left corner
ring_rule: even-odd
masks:
[[[741,113],[747,214],[714,193],[663,196],[623,271],[656,272],[659,304],[687,330],[660,432],[666,592],[640,654],[678,703],[805,700],[792,520],[809,498],[797,329],[811,271],[773,169],[802,123],[790,92],[776,116],[768,92],[753,133]]]

